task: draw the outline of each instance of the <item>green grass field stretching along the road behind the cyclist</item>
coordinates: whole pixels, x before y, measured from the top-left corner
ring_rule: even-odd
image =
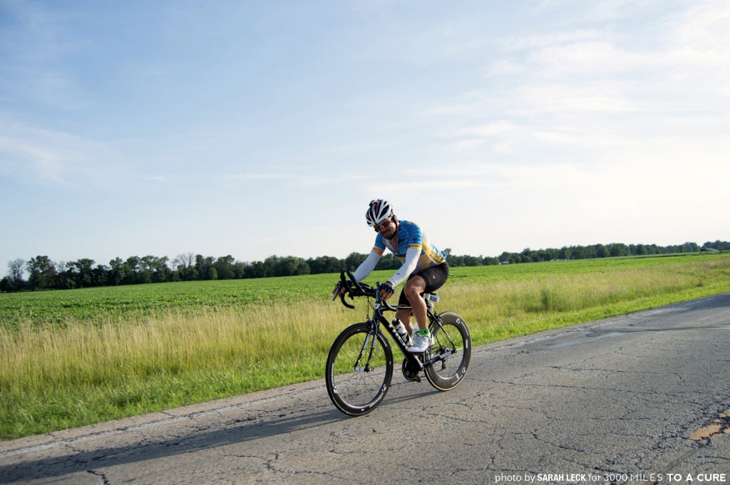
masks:
[[[385,280],[378,271],[367,280]],[[0,438],[322,379],[336,275],[0,295]],[[730,255],[452,268],[474,344],[730,291]]]

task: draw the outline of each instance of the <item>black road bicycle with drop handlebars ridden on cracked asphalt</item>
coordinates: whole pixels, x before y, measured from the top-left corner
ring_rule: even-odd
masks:
[[[439,300],[437,294],[423,295],[434,344],[426,352],[413,353],[408,352],[396,328],[383,315],[385,311],[410,309],[410,306],[389,305],[380,299],[379,283],[375,287],[358,283],[350,271],[342,271],[339,279],[333,300],[339,295],[343,305],[354,309],[345,296],[350,300],[366,297],[369,308],[367,321],[342,330],[327,357],[327,392],[339,411],[349,416],[368,414],[383,401],[391,387],[393,351],[381,327],[388,330],[403,354],[401,370],[407,381],[420,382],[423,372],[431,386],[439,391],[449,391],[461,383],[472,358],[472,337],[463,318],[451,311],[434,310],[434,303]],[[345,292],[341,293],[342,288]]]

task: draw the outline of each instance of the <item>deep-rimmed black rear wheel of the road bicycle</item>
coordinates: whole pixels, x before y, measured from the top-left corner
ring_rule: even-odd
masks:
[[[449,391],[458,386],[469,370],[472,360],[472,335],[464,319],[453,312],[439,314],[441,325],[431,324],[434,345],[426,352],[426,361],[445,355],[424,368],[426,379],[439,391]],[[450,352],[450,354],[449,354]]]

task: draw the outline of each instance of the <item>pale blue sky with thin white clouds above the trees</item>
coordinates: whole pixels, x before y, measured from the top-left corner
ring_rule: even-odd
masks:
[[[0,60],[3,266],[730,239],[724,0],[0,0]]]

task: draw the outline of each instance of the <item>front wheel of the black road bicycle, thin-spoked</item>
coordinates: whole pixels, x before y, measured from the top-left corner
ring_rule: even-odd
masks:
[[[372,357],[371,325],[357,323],[342,330],[329,351],[325,368],[327,393],[334,406],[348,416],[372,411],[385,397],[393,378],[393,352],[382,332]],[[366,352],[362,352],[364,349]]]

